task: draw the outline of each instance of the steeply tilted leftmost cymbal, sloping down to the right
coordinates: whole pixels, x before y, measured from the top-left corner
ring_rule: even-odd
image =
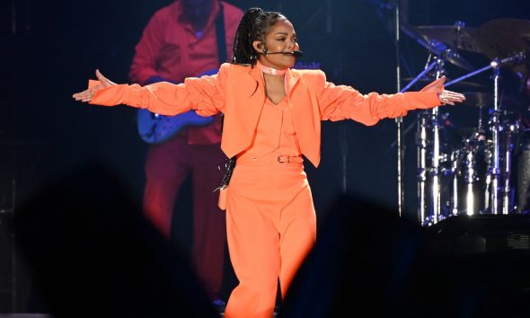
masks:
[[[464,57],[462,57],[455,48],[448,47],[442,41],[435,38],[429,38],[426,35],[421,35],[416,31],[416,28],[406,24],[402,24],[400,29],[403,33],[411,37],[412,40],[416,40],[422,47],[427,49],[430,53],[437,57],[445,58],[455,66],[464,68],[467,71],[473,71],[473,65],[469,63]]]

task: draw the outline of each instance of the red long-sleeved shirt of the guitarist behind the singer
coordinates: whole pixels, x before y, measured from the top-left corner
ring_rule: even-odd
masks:
[[[175,1],[158,10],[147,23],[130,66],[131,82],[146,84],[150,77],[158,76],[180,83],[186,77],[217,69],[216,16],[219,5],[223,5],[224,9],[226,56],[230,57],[234,34],[243,12],[234,5],[214,1],[212,13],[198,37],[182,15],[181,2]],[[204,127],[185,128],[181,135],[188,138],[190,145],[218,144],[221,141],[220,119],[216,118]]]

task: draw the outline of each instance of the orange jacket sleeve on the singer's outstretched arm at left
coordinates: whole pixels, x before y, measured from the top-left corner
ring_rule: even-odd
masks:
[[[224,108],[227,67],[227,64],[221,66],[216,75],[186,78],[183,84],[113,85],[95,93],[90,103],[126,104],[170,116],[188,110],[195,110],[200,116],[211,116]],[[91,81],[89,87],[97,84],[98,81]]]

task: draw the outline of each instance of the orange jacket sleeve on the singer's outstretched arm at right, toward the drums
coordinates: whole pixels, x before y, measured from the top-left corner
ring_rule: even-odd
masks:
[[[361,94],[350,86],[327,82],[322,71],[318,71],[315,86],[322,120],[353,119],[371,126],[380,119],[405,116],[408,110],[441,104],[436,92]]]

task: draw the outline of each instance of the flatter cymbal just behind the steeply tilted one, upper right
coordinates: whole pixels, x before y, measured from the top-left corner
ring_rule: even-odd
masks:
[[[424,25],[414,27],[424,39],[435,39],[453,49],[464,49],[471,52],[480,52],[477,43],[477,30],[460,25]]]

